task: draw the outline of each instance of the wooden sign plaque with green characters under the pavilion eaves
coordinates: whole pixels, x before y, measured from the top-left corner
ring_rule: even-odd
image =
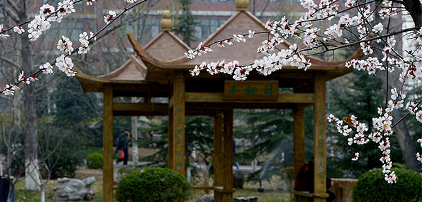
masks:
[[[224,100],[277,100],[278,81],[224,81]]]

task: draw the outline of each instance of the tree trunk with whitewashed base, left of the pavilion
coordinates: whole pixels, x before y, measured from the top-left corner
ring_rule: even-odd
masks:
[[[19,13],[21,22],[26,21],[26,7]],[[28,32],[21,34],[21,66],[26,75],[35,72],[33,64],[32,44],[28,42]],[[25,116],[25,187],[26,190],[39,190],[38,174],[38,135],[37,113],[35,109],[35,83],[26,85],[24,91],[24,116]]]

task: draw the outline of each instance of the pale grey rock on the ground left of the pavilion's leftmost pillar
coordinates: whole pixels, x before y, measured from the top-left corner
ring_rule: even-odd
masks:
[[[73,178],[57,178],[57,185],[53,188],[54,200],[59,201],[80,201],[93,199],[97,192],[91,185],[95,183],[95,177],[84,178],[82,181]]]

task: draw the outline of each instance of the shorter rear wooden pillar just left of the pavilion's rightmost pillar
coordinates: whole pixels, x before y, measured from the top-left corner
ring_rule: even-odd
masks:
[[[294,126],[294,161],[295,161],[295,176],[299,172],[302,165],[305,163],[305,122],[304,109],[293,109],[293,126]]]

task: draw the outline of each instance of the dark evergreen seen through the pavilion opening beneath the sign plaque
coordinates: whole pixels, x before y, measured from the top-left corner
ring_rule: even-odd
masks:
[[[235,160],[253,160],[264,157],[262,168],[250,174],[248,181],[270,178],[279,174],[282,167],[291,167],[293,155],[293,111],[287,109],[255,109],[235,111],[235,118],[243,124],[235,127],[235,137],[252,143],[252,146],[235,154]],[[313,153],[312,109],[305,109],[305,153]]]

